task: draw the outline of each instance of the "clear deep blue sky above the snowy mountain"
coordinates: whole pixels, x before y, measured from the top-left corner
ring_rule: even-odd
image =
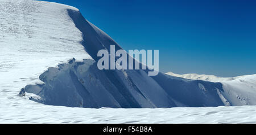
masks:
[[[49,1],[79,8],[125,50],[158,49],[162,72],[256,73],[256,1]]]

